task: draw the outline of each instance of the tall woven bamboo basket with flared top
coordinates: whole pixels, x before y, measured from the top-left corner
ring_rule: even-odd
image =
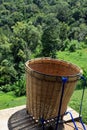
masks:
[[[61,77],[67,77],[65,84],[61,116],[67,109],[70,97],[82,70],[71,63],[51,58],[39,58],[27,61],[26,69],[26,109],[36,120],[57,117],[62,89]]]

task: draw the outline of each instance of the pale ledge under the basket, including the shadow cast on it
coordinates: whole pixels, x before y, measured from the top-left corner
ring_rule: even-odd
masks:
[[[68,107],[67,111],[70,111],[72,113],[74,120],[79,120],[79,114],[75,110]],[[58,130],[75,130],[69,114],[65,115],[63,119],[66,123],[60,124],[58,126],[59,127]],[[83,130],[82,125],[78,121],[75,122],[78,127],[78,130]],[[35,125],[35,127],[32,126],[32,124]],[[26,106],[23,105],[10,109],[0,110],[0,130],[17,130],[17,129],[38,130],[38,124],[34,124],[33,120],[29,119],[29,115],[26,114]],[[39,130],[42,130],[42,128]]]

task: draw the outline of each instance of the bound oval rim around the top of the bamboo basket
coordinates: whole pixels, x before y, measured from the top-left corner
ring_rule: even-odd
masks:
[[[70,65],[73,65],[74,67],[78,68],[79,69],[79,73],[77,74],[73,74],[73,75],[67,75],[67,76],[61,76],[61,75],[52,75],[52,74],[46,74],[46,73],[42,73],[42,72],[39,72],[37,70],[34,70],[33,68],[31,68],[28,64],[29,62],[32,62],[32,61],[37,61],[37,60],[54,60],[54,61],[60,61],[60,62],[63,62],[63,63],[67,63],[67,64],[70,64]],[[65,61],[65,60],[60,60],[60,59],[54,59],[54,58],[50,58],[50,57],[43,57],[43,58],[35,58],[35,59],[31,59],[31,60],[28,60],[27,62],[25,62],[25,66],[27,67],[27,69],[29,69],[31,72],[35,72],[37,74],[40,74],[40,75],[43,75],[43,76],[49,76],[49,77],[69,77],[69,78],[73,78],[73,77],[80,77],[82,76],[83,74],[83,70],[77,66],[76,64],[74,63],[71,63],[71,62],[68,62],[68,61]]]

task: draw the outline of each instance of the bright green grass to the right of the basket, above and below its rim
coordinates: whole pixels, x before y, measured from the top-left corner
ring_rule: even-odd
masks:
[[[77,50],[76,52],[70,53],[69,51],[59,51],[57,52],[57,58],[71,63],[76,64],[81,67],[83,72],[87,74],[87,48]],[[87,77],[87,75],[85,75]],[[81,100],[82,90],[75,90],[73,96],[71,97],[69,105],[79,112],[79,105]],[[87,89],[85,91],[84,101],[83,101],[83,111],[82,111],[83,121],[87,123]]]

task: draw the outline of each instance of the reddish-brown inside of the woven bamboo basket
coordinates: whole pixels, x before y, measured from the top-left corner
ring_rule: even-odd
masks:
[[[81,72],[81,69],[74,64],[52,59],[30,61],[28,67],[38,73],[52,76],[75,76]]]

